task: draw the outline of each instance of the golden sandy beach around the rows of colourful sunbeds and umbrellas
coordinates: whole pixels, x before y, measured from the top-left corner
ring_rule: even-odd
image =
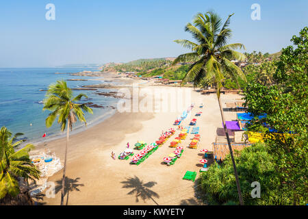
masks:
[[[157,86],[146,86],[149,89]],[[188,89],[191,102],[195,103],[191,114],[181,125],[189,125],[192,118],[197,118],[200,127],[201,142],[198,149],[188,149],[192,134],[182,140],[183,155],[172,166],[163,164],[163,158],[175,149],[169,147],[171,140],[178,136],[175,133],[148,159],[139,166],[129,164],[130,160],[118,159],[118,154],[130,148],[139,140],[147,144],[155,142],[162,131],[173,125],[179,112],[116,112],[102,123],[70,136],[68,146],[68,205],[199,205],[194,192],[196,183],[183,180],[187,170],[198,172],[198,160],[203,158],[200,149],[212,151],[212,142],[216,138],[216,129],[222,127],[220,110],[216,94],[202,95],[193,88]],[[239,100],[239,94],[222,94],[222,103]],[[203,103],[203,109],[198,106]],[[187,105],[188,107],[189,105]],[[196,112],[202,112],[195,117]],[[227,120],[235,119],[235,112],[225,112]],[[66,138],[60,138],[38,144],[36,151],[49,149],[60,157],[63,162]],[[116,153],[112,159],[111,152]],[[138,151],[133,150],[134,153]],[[56,184],[55,198],[44,197],[40,203],[45,205],[60,205],[59,185],[62,170],[49,178]],[[137,193],[134,190],[138,190]],[[141,191],[141,192],[140,192]],[[64,199],[66,202],[67,194]]]

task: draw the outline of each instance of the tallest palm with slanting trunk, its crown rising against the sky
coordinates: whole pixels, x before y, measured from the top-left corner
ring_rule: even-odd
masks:
[[[238,187],[238,196],[240,204],[242,205],[243,201],[240,182],[238,180],[238,172],[236,170],[229,133],[227,132],[227,127],[224,122],[224,114],[220,102],[220,89],[222,88],[224,76],[228,75],[237,82],[238,77],[246,81],[246,77],[244,73],[242,73],[242,70],[231,62],[231,60],[245,60],[246,57],[244,54],[233,50],[245,49],[244,45],[240,43],[227,44],[227,40],[231,36],[231,29],[228,27],[232,15],[233,14],[230,14],[227,21],[222,25],[222,19],[214,12],[196,14],[193,19],[193,24],[188,23],[185,26],[185,31],[192,34],[192,37],[196,42],[190,40],[175,40],[175,42],[181,44],[183,47],[191,49],[192,52],[179,55],[172,64],[175,65],[178,62],[185,62],[188,59],[195,58],[197,61],[190,65],[188,73],[186,73],[182,83],[185,80],[190,79],[194,82],[194,86],[196,86],[200,83],[201,79],[207,79],[213,81],[216,86],[220,114],[233,162],[235,179]]]

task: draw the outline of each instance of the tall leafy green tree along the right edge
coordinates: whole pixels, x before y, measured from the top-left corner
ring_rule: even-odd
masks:
[[[268,116],[254,120],[249,129],[261,131],[262,123],[283,135],[270,136],[266,144],[273,156],[275,170],[279,178],[277,187],[289,197],[286,204],[303,205],[307,199],[307,129],[308,129],[308,28],[293,36],[290,46],[282,50],[277,69],[273,74],[274,83],[265,86],[251,83],[245,92],[249,112]],[[293,133],[292,135],[288,133]]]

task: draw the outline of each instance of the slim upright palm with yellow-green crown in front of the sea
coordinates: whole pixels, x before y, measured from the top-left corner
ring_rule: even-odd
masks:
[[[84,111],[93,114],[92,109],[85,103],[76,103],[77,101],[80,101],[83,96],[86,98],[88,97],[86,94],[78,94],[77,96],[73,97],[73,92],[70,90],[70,88],[68,88],[66,81],[59,80],[57,83],[51,83],[46,93],[46,99],[44,99],[43,110],[51,111],[49,116],[46,118],[46,126],[48,128],[51,127],[57,116],[57,123],[61,125],[61,131],[64,131],[66,124],[68,124],[66,129],[66,147],[62,178],[61,205],[63,205],[64,202],[64,183],[69,131],[72,130],[73,123],[75,123],[77,119],[86,124]]]

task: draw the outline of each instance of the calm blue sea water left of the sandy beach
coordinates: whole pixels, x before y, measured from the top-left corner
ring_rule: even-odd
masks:
[[[8,127],[12,133],[24,133],[26,142],[42,142],[65,135],[60,132],[57,122],[47,129],[45,118],[50,113],[42,111],[42,100],[50,83],[57,79],[88,79],[88,81],[67,81],[70,88],[79,88],[83,85],[97,83],[114,83],[110,81],[95,81],[97,77],[71,76],[69,74],[55,73],[77,73],[83,70],[97,70],[97,68],[0,68],[0,127]],[[107,89],[100,89],[107,92]],[[73,93],[84,93],[88,100],[97,105],[114,106],[118,99],[95,94],[95,90],[73,90]],[[114,114],[115,110],[110,107],[93,108],[93,115],[86,114],[88,127]],[[31,124],[31,125],[30,125]],[[77,133],[86,129],[81,123],[75,123],[73,132]],[[47,133],[47,138],[42,135]]]

